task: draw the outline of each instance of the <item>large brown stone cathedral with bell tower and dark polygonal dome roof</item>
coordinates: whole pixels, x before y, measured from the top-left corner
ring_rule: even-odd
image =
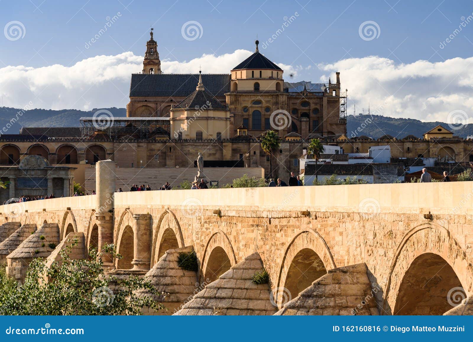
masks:
[[[292,133],[302,139],[346,134],[340,105],[346,93],[341,93],[340,73],[335,83],[330,79],[327,84],[284,82],[284,70],[259,51],[256,41],[254,53],[228,74],[166,74],[161,70],[158,43],[150,34],[143,71],[131,75],[128,117],[170,117],[171,109],[193,93],[201,76],[208,93],[228,108],[229,137],[240,126],[254,137],[268,129],[278,130],[280,137]],[[192,134],[181,133],[187,139],[200,137],[195,129]],[[217,131],[204,134],[217,137]]]

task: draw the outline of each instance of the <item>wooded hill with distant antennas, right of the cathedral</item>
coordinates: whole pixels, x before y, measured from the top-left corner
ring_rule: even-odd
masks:
[[[389,134],[401,139],[412,134],[421,138],[425,132],[437,125],[442,125],[451,130],[458,137],[466,138],[467,136],[473,136],[473,124],[468,124],[454,130],[447,123],[440,121],[422,122],[416,119],[390,118],[382,115],[368,114],[347,116],[348,137],[368,136],[377,139],[385,134]]]

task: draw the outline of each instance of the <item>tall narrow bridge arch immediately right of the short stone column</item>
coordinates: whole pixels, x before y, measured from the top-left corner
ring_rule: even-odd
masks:
[[[153,230],[151,267],[166,253],[166,250],[181,247],[184,247],[181,226],[175,214],[166,209],[159,216],[158,223]]]

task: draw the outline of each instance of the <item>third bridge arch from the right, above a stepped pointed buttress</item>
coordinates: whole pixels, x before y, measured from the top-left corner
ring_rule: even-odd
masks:
[[[236,256],[230,239],[223,231],[214,232],[207,242],[201,261],[202,282],[210,283],[236,265]]]

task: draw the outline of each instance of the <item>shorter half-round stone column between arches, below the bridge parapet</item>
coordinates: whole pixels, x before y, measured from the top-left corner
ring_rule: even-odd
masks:
[[[151,265],[151,215],[133,214],[135,234],[133,239],[133,270],[148,271]]]

